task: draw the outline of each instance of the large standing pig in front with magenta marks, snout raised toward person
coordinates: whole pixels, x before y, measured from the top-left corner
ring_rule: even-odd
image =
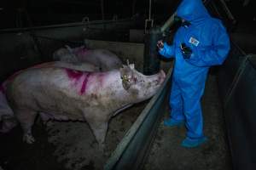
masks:
[[[38,68],[23,71],[9,82],[6,96],[26,143],[34,142],[31,128],[38,112],[43,112],[44,119],[88,122],[102,146],[111,116],[152,97],[165,77],[164,71],[144,76],[134,65],[107,72]]]

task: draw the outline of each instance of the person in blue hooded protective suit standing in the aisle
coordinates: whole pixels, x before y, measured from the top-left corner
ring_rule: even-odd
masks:
[[[182,20],[172,45],[161,40],[159,53],[174,57],[170,118],[164,125],[172,127],[185,123],[184,147],[195,147],[207,138],[203,133],[201,96],[211,65],[221,65],[230,50],[230,39],[221,21],[208,14],[201,0],[183,0],[176,11]]]

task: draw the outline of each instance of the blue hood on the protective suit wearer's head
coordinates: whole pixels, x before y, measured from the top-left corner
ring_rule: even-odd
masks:
[[[191,24],[200,23],[210,17],[201,0],[183,0],[177,7],[176,14]]]

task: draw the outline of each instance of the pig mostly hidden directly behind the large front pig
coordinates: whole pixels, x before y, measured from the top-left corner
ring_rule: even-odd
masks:
[[[44,68],[44,67],[60,67],[60,68],[69,68],[77,71],[100,71],[98,67],[95,65],[91,65],[89,63],[81,63],[73,65],[71,63],[62,62],[62,61],[55,61],[55,62],[47,62],[40,65],[34,65],[28,69],[35,69],[35,68]],[[27,69],[26,69],[27,70]],[[22,70],[22,71],[26,71]],[[2,122],[0,132],[7,133],[10,129],[15,127],[17,124],[14,111],[9,107],[8,101],[5,96],[5,88],[8,82],[11,82],[20,72],[16,72],[13,76],[9,77],[3,84],[0,85],[0,122]],[[41,113],[42,118],[44,118],[44,114]],[[47,121],[47,119],[44,119]]]

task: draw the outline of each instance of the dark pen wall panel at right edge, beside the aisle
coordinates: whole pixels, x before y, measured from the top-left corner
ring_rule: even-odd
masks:
[[[224,105],[224,118],[230,143],[233,168],[236,170],[255,169],[255,120],[256,120],[256,56],[247,56],[239,77]]]

